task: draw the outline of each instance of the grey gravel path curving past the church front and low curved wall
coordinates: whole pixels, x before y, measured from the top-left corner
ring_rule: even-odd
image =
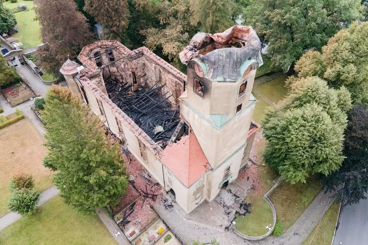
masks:
[[[326,206],[329,207],[333,199],[330,199],[330,193],[324,193],[322,190],[312,201],[309,207],[298,218],[295,224],[280,237],[268,237],[262,241],[252,242],[238,237],[233,232],[225,232],[216,227],[211,227],[193,220],[187,220],[178,209],[181,209],[178,204],[174,204],[173,209],[166,210],[162,204],[157,204],[155,210],[160,217],[169,225],[185,243],[192,240],[208,243],[212,238],[215,238],[221,245],[300,245],[307,239],[315,225],[321,220]],[[277,210],[276,210],[277,215]]]

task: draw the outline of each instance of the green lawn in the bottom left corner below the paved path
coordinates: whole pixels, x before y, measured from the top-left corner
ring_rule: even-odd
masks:
[[[117,244],[96,214],[85,216],[56,196],[0,231],[0,244],[89,245]]]

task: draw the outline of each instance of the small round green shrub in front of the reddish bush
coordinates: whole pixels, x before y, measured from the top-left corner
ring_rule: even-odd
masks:
[[[34,214],[39,200],[40,193],[36,190],[27,188],[15,190],[8,200],[8,209],[21,215]]]

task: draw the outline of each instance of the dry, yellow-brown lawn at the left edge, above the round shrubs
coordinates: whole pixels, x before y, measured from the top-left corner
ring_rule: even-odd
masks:
[[[0,129],[0,216],[8,213],[8,184],[15,172],[32,174],[39,192],[52,185],[52,173],[42,166],[42,158],[47,154],[42,144],[43,137],[29,118]]]

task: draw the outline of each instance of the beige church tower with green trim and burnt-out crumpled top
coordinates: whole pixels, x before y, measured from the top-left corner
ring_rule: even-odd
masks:
[[[235,178],[229,182],[249,155],[245,156],[256,103],[251,92],[256,69],[262,65],[260,50],[252,27],[236,25],[219,34],[198,33],[180,53],[188,70],[180,116],[191,126],[212,171],[233,172]]]

